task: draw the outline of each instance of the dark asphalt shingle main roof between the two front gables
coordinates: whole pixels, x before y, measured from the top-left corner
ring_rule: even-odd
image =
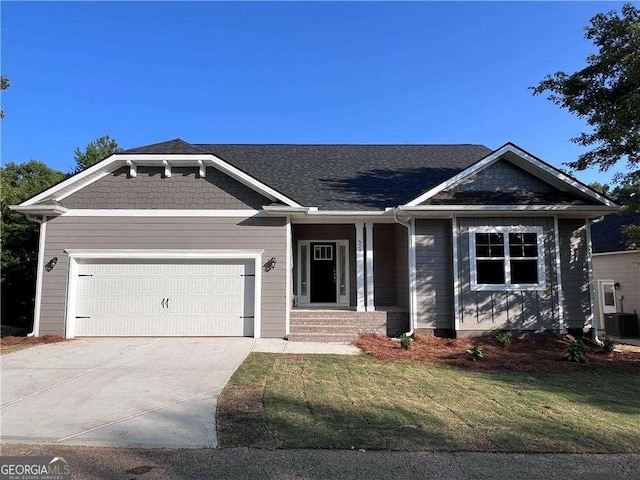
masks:
[[[221,145],[172,140],[124,153],[211,153],[305,206],[405,204],[491,153],[483,145]]]

